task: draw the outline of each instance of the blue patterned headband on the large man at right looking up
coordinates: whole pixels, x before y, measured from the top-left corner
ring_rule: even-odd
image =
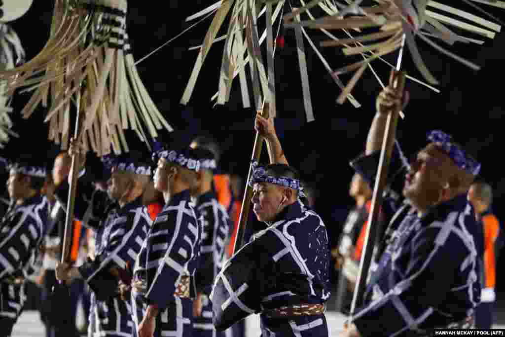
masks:
[[[427,133],[427,138],[434,142],[435,145],[442,148],[447,156],[449,156],[459,168],[473,175],[479,174],[481,164],[470,157],[458,145],[453,143],[450,135],[440,130],[433,130]]]

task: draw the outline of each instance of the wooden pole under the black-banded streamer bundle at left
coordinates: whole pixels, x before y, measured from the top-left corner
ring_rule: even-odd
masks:
[[[78,141],[80,139],[80,127],[81,127],[81,94],[80,91],[77,93],[77,116],[75,118],[75,127],[74,127],[74,141]],[[63,249],[61,262],[70,262],[70,246],[72,244],[72,228],[74,223],[74,206],[75,206],[75,192],[77,189],[77,175],[79,174],[78,163],[77,163],[76,154],[72,155],[72,166],[70,168],[70,188],[67,199],[67,217],[65,219],[65,233],[63,236]]]

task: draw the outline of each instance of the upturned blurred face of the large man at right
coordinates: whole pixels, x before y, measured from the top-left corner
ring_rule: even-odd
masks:
[[[421,150],[406,175],[403,196],[416,204],[435,204],[440,198],[441,189],[447,183],[443,167],[448,161],[451,159],[447,155],[433,148]]]

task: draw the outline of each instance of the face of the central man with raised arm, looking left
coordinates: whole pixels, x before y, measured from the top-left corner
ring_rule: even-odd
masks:
[[[273,221],[286,204],[283,188],[268,182],[256,183],[252,193],[253,210],[259,221]]]

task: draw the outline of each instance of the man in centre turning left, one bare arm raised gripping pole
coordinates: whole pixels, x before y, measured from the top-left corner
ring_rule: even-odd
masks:
[[[263,336],[327,336],[326,227],[299,200],[299,174],[287,165],[273,119],[258,114],[256,128],[267,140],[271,164],[255,162],[249,185],[253,210],[268,227],[235,252],[216,278],[211,294],[216,329],[261,312]]]

